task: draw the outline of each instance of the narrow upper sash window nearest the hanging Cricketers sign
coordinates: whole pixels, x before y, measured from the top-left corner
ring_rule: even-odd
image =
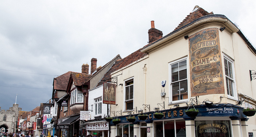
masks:
[[[133,109],[133,78],[125,81],[125,110]]]

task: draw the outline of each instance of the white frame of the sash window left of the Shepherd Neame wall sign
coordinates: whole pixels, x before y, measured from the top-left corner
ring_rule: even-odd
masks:
[[[178,63],[178,62],[181,62],[181,61],[184,61],[186,60],[186,63],[187,63],[187,79],[183,79],[183,80],[187,80],[187,85],[188,85],[188,98],[187,99],[183,99],[183,100],[176,100],[176,101],[173,101],[173,98],[172,98],[172,64],[175,64],[175,63]],[[181,59],[178,59],[178,60],[175,60],[175,61],[172,61],[170,63],[168,63],[169,65],[169,102],[170,104],[176,104],[176,103],[181,103],[181,102],[188,102],[189,101],[189,97],[190,97],[190,85],[189,85],[189,63],[188,63],[188,57],[183,57]],[[177,81],[175,81],[177,82]]]

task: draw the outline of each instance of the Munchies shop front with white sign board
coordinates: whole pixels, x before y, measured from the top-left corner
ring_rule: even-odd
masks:
[[[93,137],[109,137],[109,122],[107,121],[97,121],[97,122],[87,122],[86,123],[87,135],[92,135]]]

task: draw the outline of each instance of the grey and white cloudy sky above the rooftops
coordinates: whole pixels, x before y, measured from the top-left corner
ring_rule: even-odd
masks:
[[[52,97],[53,78],[97,58],[97,67],[148,41],[150,21],[172,32],[195,5],[237,24],[255,46],[256,1],[1,0],[0,106],[30,111]]]

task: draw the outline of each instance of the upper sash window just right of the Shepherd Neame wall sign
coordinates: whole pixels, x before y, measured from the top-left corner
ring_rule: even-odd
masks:
[[[225,65],[225,75],[226,75],[226,85],[227,85],[227,94],[231,97],[234,97],[234,71],[233,71],[233,61],[224,57],[224,65]]]

